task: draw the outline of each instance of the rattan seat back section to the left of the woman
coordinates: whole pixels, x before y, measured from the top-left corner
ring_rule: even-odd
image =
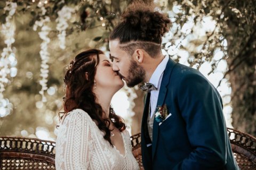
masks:
[[[0,137],[0,169],[55,169],[55,142]]]

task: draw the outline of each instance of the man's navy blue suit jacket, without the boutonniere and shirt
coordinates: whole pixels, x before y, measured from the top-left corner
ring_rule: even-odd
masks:
[[[157,106],[164,104],[171,116],[161,125],[154,120],[151,142],[147,96],[141,127],[146,170],[239,169],[231,151],[221,97],[200,72],[170,59],[157,100]]]

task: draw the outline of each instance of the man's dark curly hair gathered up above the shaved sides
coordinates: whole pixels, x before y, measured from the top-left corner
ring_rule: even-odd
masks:
[[[161,44],[162,36],[169,31],[171,21],[164,14],[154,11],[154,4],[135,1],[121,16],[121,23],[111,32],[110,40],[120,43],[150,41]]]

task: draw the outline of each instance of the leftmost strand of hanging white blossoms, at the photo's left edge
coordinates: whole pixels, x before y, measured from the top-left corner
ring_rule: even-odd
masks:
[[[8,15],[5,18],[5,23],[1,25],[1,33],[4,37],[6,47],[3,48],[0,59],[0,117],[8,115],[13,107],[13,105],[9,103],[9,99],[4,98],[3,92],[5,91],[5,84],[10,82],[7,76],[15,77],[17,74],[17,68],[15,67],[17,60],[12,49],[12,44],[15,41],[15,24],[12,19],[16,8],[17,3],[6,2],[4,11],[8,13]]]

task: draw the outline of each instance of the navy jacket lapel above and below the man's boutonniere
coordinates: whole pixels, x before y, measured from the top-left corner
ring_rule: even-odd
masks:
[[[164,74],[163,74],[163,78],[162,78],[162,82],[161,82],[161,87],[159,90],[159,95],[158,95],[158,99],[157,99],[157,106],[163,106],[164,104],[164,100],[167,94],[167,85],[169,84],[169,80],[170,80],[170,76],[172,73],[172,70],[175,66],[175,62],[172,61],[171,59],[169,59],[169,61],[167,62],[166,68],[164,70]],[[153,150],[152,150],[152,158],[154,160],[154,155],[156,152],[156,146],[157,146],[157,139],[158,139],[158,130],[159,130],[159,123],[156,122],[156,120],[154,119],[154,124],[153,124]]]

